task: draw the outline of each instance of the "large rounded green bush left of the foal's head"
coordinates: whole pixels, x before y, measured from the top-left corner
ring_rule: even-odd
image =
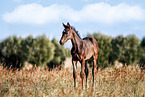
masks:
[[[46,38],[45,35],[33,39],[30,46],[30,63],[36,64],[38,66],[46,65],[49,61],[53,59],[55,47],[53,43],[48,38]]]

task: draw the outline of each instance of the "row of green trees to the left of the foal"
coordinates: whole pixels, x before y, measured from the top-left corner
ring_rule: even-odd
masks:
[[[0,42],[0,62],[8,68],[21,68],[24,62],[53,68],[62,64],[66,56],[70,56],[68,49],[59,45],[55,38],[49,40],[45,35],[25,39],[12,36]]]

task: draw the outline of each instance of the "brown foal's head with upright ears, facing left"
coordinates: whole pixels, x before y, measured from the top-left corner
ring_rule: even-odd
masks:
[[[63,45],[65,44],[69,39],[72,39],[73,35],[72,35],[72,28],[70,26],[69,23],[67,23],[67,25],[65,25],[64,23],[62,23],[64,26],[64,30],[62,32],[62,37],[60,39],[60,44]]]

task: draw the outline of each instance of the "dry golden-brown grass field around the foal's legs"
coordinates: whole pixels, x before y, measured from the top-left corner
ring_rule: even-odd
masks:
[[[144,97],[144,73],[135,66],[108,67],[98,70],[95,90],[91,88],[91,72],[90,88],[82,90],[79,76],[78,87],[73,89],[71,68],[9,71],[0,66],[0,97]]]

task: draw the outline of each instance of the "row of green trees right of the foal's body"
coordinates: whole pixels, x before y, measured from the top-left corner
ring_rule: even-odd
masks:
[[[98,65],[106,67],[119,61],[126,65],[140,64],[145,67],[145,37],[140,40],[133,35],[110,37],[100,33],[88,34],[99,45]]]

